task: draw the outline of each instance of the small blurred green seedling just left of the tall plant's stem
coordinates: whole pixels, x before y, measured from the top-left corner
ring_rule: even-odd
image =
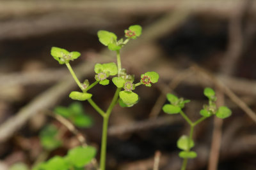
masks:
[[[54,108],[54,113],[70,120],[77,127],[89,128],[93,125],[93,119],[86,115],[83,106],[79,102],[74,102],[68,107],[57,106]]]

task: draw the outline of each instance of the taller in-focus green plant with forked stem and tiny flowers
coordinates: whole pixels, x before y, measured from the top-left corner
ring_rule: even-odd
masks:
[[[158,81],[159,75],[154,72],[147,72],[141,74],[140,82],[134,83],[134,75],[127,74],[126,70],[122,68],[120,50],[126,45],[131,39],[136,39],[141,35],[141,26],[132,25],[129,29],[125,30],[124,38],[118,39],[113,32],[109,31],[98,31],[97,35],[99,37],[100,43],[108,46],[109,50],[116,52],[116,63],[110,62],[105,64],[95,64],[95,81],[90,84],[88,80],[84,80],[81,83],[76,73],[74,73],[72,67],[70,66],[70,60],[77,59],[81,54],[79,52],[68,52],[63,48],[52,47],[51,55],[54,59],[58,60],[60,64],[65,64],[68,67],[72,77],[76,81],[81,92],[73,91],[70,92],[69,97],[77,101],[88,101],[92,107],[102,116],[102,142],[101,142],[101,152],[100,152],[100,170],[105,169],[106,163],[106,146],[107,146],[107,132],[108,132],[108,120],[111,115],[113,107],[119,103],[122,107],[131,107],[136,104],[139,100],[138,94],[133,92],[136,87],[140,85],[145,85],[150,87],[152,83]],[[100,85],[109,84],[109,76],[114,76],[111,80],[116,86],[116,91],[113,96],[111,103],[106,111],[103,111],[92,99],[92,94],[88,93],[88,90],[92,89],[98,83]],[[64,111],[65,112],[65,111]],[[63,112],[63,115],[65,113]]]

